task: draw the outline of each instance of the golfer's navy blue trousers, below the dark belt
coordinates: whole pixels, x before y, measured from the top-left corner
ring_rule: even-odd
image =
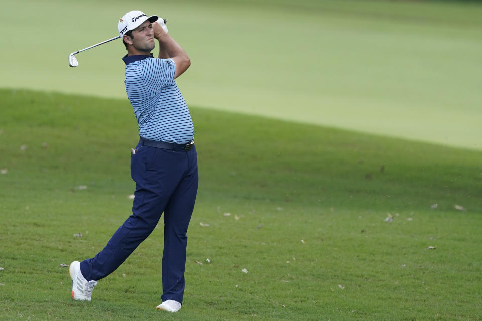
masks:
[[[94,258],[80,262],[83,276],[100,280],[115,271],[156,227],[164,212],[161,298],[182,303],[187,228],[198,187],[195,146],[188,151],[136,146],[131,177],[136,182],[132,215]]]

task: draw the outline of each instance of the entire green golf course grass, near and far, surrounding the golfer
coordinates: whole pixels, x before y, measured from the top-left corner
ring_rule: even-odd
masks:
[[[200,174],[183,308],[154,308],[162,220],[92,302],[61,266],[131,213],[124,48],[67,57],[134,8],[19,1],[0,13],[0,319],[481,318],[482,6],[144,5],[193,62],[177,80]]]

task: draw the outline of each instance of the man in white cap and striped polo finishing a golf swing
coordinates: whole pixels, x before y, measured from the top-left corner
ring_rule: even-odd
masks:
[[[119,21],[127,49],[125,85],[139,124],[139,144],[131,152],[136,182],[132,215],[94,258],[70,264],[72,297],[91,300],[97,281],[117,269],[145,240],[164,212],[162,304],[177,312],[184,294],[187,228],[198,187],[194,127],[176,82],[191,62],[163,29],[157,16],[130,11]],[[162,19],[161,19],[162,20]],[[165,28],[165,27],[164,27]],[[151,51],[159,42],[159,57]]]

